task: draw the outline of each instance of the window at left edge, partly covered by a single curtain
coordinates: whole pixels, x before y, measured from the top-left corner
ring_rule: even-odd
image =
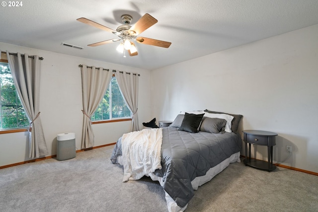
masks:
[[[0,62],[0,130],[29,126],[8,63]]]

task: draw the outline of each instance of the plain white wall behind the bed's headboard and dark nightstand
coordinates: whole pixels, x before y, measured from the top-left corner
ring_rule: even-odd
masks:
[[[152,71],[153,116],[214,110],[276,132],[274,160],[318,172],[318,25]],[[264,146],[252,151],[267,160]],[[241,152],[244,155],[244,152]],[[262,156],[264,155],[264,156]]]

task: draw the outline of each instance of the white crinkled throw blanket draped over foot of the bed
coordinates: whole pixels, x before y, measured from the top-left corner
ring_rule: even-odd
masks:
[[[162,129],[144,129],[124,134],[121,140],[123,182],[138,180],[161,169]]]

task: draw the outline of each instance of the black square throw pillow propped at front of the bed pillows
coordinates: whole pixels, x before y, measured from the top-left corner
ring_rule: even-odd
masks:
[[[204,113],[202,114],[185,113],[181,126],[178,130],[186,131],[189,133],[197,133],[200,127],[203,115]]]

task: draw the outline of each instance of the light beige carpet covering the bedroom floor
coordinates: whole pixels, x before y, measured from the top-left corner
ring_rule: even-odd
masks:
[[[0,169],[1,212],[167,212],[158,182],[122,182],[113,146]],[[199,187],[186,212],[318,212],[318,176],[230,164]]]

